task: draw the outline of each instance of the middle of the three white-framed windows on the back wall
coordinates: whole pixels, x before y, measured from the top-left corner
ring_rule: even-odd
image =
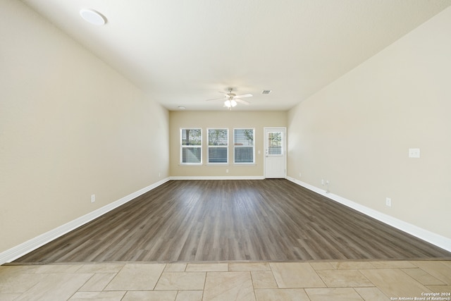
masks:
[[[209,163],[228,163],[228,129],[209,128]]]

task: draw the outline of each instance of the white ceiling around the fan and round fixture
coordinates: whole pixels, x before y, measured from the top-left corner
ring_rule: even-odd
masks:
[[[153,99],[177,110],[287,110],[451,0],[23,0]],[[80,9],[102,13],[91,25]],[[262,90],[272,90],[263,95]]]

